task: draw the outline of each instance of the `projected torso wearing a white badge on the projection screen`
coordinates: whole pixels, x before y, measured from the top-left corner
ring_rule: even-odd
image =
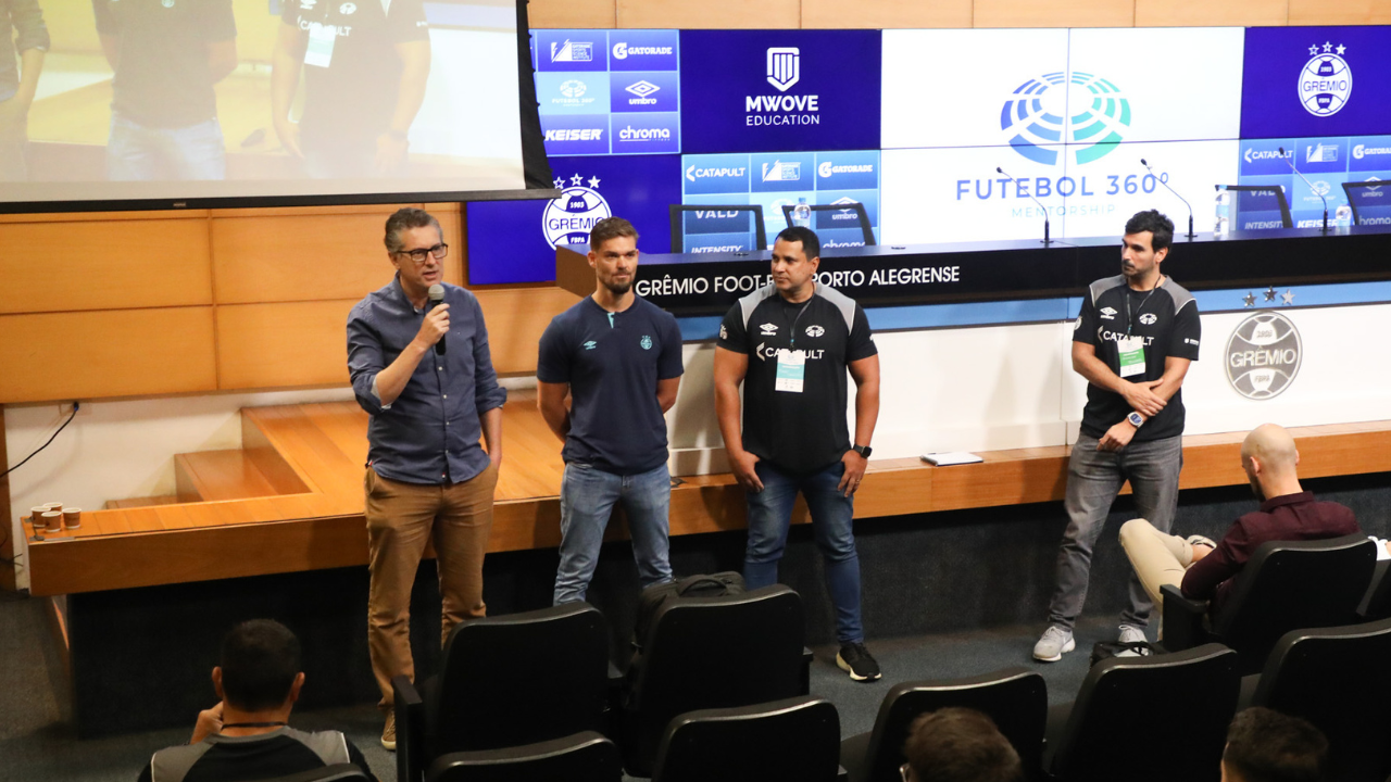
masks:
[[[282,0],[271,56],[271,120],[316,178],[402,175],[430,78],[421,0]],[[305,71],[305,113],[289,109]]]

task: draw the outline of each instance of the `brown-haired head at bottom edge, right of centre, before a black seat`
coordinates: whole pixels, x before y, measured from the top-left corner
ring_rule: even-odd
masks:
[[[985,714],[942,708],[919,715],[903,746],[915,782],[1017,782],[1020,754]]]

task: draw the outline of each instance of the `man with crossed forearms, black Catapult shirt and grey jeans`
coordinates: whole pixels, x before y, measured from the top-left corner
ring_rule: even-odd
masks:
[[[1064,506],[1070,523],[1057,555],[1049,628],[1034,647],[1045,662],[1075,648],[1072,625],[1086,601],[1092,547],[1128,480],[1136,515],[1168,532],[1184,465],[1180,387],[1198,360],[1202,324],[1192,294],[1160,273],[1174,223],[1141,212],[1125,223],[1121,274],[1092,282],[1072,324],[1072,370],[1086,378],[1082,431],[1072,445]],[[1131,575],[1120,640],[1145,640],[1152,604]]]

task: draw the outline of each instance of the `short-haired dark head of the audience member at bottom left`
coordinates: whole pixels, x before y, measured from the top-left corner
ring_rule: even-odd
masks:
[[[223,639],[223,697],[242,711],[275,708],[299,676],[299,639],[274,619],[252,619]]]

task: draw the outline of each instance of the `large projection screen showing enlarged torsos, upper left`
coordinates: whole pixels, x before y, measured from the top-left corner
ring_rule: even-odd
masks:
[[[13,21],[47,56],[28,127],[0,121],[4,212],[505,198],[544,170],[515,0],[39,6]]]

